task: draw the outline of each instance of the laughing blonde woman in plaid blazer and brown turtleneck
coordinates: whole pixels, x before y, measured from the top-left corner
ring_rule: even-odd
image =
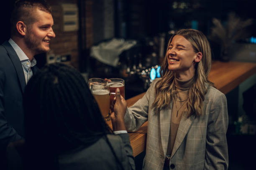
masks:
[[[169,40],[161,78],[119,115],[132,131],[148,121],[144,170],[228,169],[227,101],[207,80],[210,67],[205,35],[179,30]]]

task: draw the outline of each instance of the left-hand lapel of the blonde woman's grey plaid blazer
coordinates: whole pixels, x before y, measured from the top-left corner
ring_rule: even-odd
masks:
[[[161,133],[161,143],[162,143],[164,155],[167,152],[167,145],[169,142],[171,117],[172,117],[172,103],[170,104],[170,108],[160,110],[160,133]]]

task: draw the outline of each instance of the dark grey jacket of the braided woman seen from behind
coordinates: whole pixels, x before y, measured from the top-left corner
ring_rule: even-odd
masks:
[[[124,170],[135,170],[129,134],[107,135]],[[60,170],[121,170],[110,147],[101,138],[93,145],[59,156]]]

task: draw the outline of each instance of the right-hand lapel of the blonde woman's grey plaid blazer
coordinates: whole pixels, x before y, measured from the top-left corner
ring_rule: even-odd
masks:
[[[189,130],[189,127],[191,126],[194,119],[195,119],[194,114],[191,115],[189,118],[187,118],[187,113],[186,112],[183,113],[182,119],[180,120],[180,123],[179,123],[179,128],[178,128],[177,136],[176,136],[176,139],[175,139],[175,142],[174,142],[174,147],[173,147],[173,150],[172,150],[171,158],[176,153],[180,144],[184,140],[184,137],[186,136],[186,134]]]

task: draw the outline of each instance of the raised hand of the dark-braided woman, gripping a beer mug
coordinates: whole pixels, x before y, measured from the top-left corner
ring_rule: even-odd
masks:
[[[114,105],[114,112],[110,114],[113,131],[117,130],[126,130],[124,124],[124,116],[127,109],[127,102],[120,95],[120,89],[117,88],[115,90],[115,105]]]

